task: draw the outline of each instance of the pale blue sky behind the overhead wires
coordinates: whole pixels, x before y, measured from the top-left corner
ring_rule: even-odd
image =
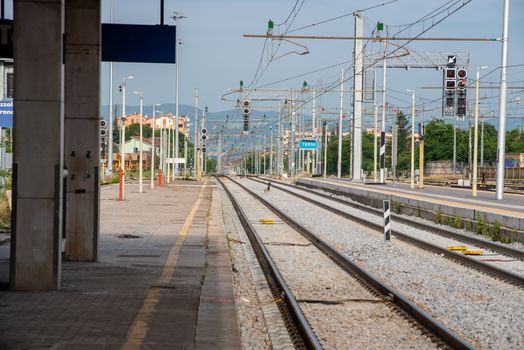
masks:
[[[160,1],[113,0],[115,23],[159,23]],[[337,17],[353,12],[359,8],[370,7],[387,2],[379,1],[340,1],[315,0],[305,1],[290,28],[293,30],[324,19]],[[301,2],[300,2],[301,3]],[[421,1],[398,0],[391,4],[364,12],[365,35],[369,35],[376,22],[384,22],[391,32],[397,32],[401,25],[412,23],[428,14],[439,6],[448,3],[447,0]],[[234,107],[230,102],[220,100],[220,97],[231,88],[237,88],[242,79],[248,84],[257,69],[264,39],[243,38],[242,34],[263,34],[266,31],[267,21],[273,19],[280,23],[290,13],[295,0],[204,0],[204,1],[170,1],[166,0],[166,23],[173,24],[167,18],[174,11],[181,11],[187,19],[180,26],[180,38],[183,45],[180,51],[180,103],[193,105],[194,88],[200,90],[200,105],[206,104],[210,110],[228,110]],[[103,21],[109,21],[110,0],[103,1]],[[428,31],[428,37],[500,37],[502,35],[502,0],[473,0],[457,13],[445,19],[442,23]],[[511,1],[509,64],[524,64],[524,1]],[[288,21],[289,23],[289,21]],[[430,22],[424,22],[411,27],[401,35],[415,36]],[[281,29],[282,30],[282,27]],[[354,34],[354,18],[347,16],[343,19],[331,21],[312,28],[295,31],[295,35],[333,35],[351,36]],[[265,85],[282,78],[313,71],[352,58],[352,41],[314,41],[297,40],[307,46],[308,55],[299,56],[290,54],[269,64],[258,85]],[[268,42],[268,46],[271,42]],[[277,43],[273,43],[274,47]],[[379,50],[381,44],[369,44],[370,50]],[[499,42],[412,42],[408,45],[410,51],[429,52],[469,52],[471,55],[470,76],[474,75],[477,66],[487,65],[490,68],[483,73],[491,72],[500,65],[501,44]],[[283,44],[277,56],[292,50],[301,50],[292,44]],[[262,59],[262,67],[267,65],[267,55]],[[103,64],[102,74],[102,104],[108,101],[108,64]],[[267,88],[298,88],[303,80],[310,84],[322,81],[328,83],[337,79],[341,68],[349,68],[350,64],[311,74],[284,83],[269,85]],[[381,76],[381,71],[377,71]],[[174,65],[160,64],[130,64],[115,63],[115,89],[117,81],[123,76],[133,75],[129,82],[129,90],[144,92],[144,103],[173,103],[175,101],[175,67]],[[494,70],[483,77],[483,81],[496,83],[500,73]],[[406,89],[417,91],[417,104],[426,99],[438,98],[437,90],[424,87],[441,84],[442,73],[435,70],[391,69],[388,74],[388,93],[390,103],[397,106],[408,106],[410,95]],[[510,82],[514,85],[524,85],[524,66],[512,67],[509,70]],[[519,83],[521,82],[521,83]],[[380,84],[380,79],[378,79]],[[346,87],[351,82],[346,83]],[[496,86],[496,85],[494,85]],[[115,90],[117,91],[117,90]],[[510,90],[509,97],[524,97],[521,90]],[[115,96],[118,96],[117,94]],[[483,89],[481,97],[485,113],[497,110],[497,89]],[[118,98],[118,97],[116,97]],[[136,100],[136,101],[135,101]],[[118,101],[118,99],[117,99]],[[129,104],[138,104],[136,96],[128,96]],[[346,98],[348,101],[348,98]],[[323,96],[323,105],[336,107],[337,94]],[[438,104],[437,104],[438,105]],[[433,104],[435,107],[435,104]],[[522,105],[509,105],[508,113],[518,115],[524,113]],[[430,118],[437,112],[424,112],[425,118]],[[438,114],[438,113],[437,113]]]

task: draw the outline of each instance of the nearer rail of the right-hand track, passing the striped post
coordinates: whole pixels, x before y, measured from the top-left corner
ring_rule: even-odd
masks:
[[[286,193],[289,193],[295,197],[298,197],[302,200],[305,200],[311,204],[314,204],[318,207],[321,207],[323,209],[326,209],[336,215],[339,215],[345,219],[348,219],[348,220],[351,220],[351,221],[356,221],[358,222],[359,224],[362,224],[366,227],[369,227],[375,231],[379,231],[379,232],[382,232],[384,230],[384,227],[380,224],[376,224],[374,222],[371,222],[369,220],[366,220],[362,217],[359,217],[359,216],[356,216],[356,215],[353,215],[353,214],[349,214],[345,211],[342,211],[340,209],[337,209],[337,208],[333,208],[327,204],[324,204],[324,203],[321,203],[321,202],[318,202],[312,198],[309,198],[309,197],[306,197],[306,196],[303,196],[301,194],[298,194],[296,192],[293,192],[293,191],[289,191],[287,189],[284,189],[284,188],[281,188],[281,187],[277,187],[277,186],[273,186],[283,192],[286,192]],[[316,194],[316,193],[315,193]],[[369,207],[368,207],[369,208]],[[425,228],[427,229],[427,228]],[[428,243],[428,242],[425,242],[423,240],[420,240],[418,238],[415,238],[415,237],[412,237],[410,235],[407,235],[405,233],[402,233],[398,230],[391,230],[391,234],[395,235],[397,238],[403,240],[404,242],[406,243],[409,243],[411,245],[415,245],[415,246],[418,246],[424,250],[428,250],[428,251],[431,251],[431,252],[434,252],[434,253],[437,253],[437,254],[441,254],[449,259],[452,259],[454,261],[457,261],[463,265],[466,265],[470,268],[473,268],[475,270],[479,270],[479,271],[482,271],[490,276],[493,276],[493,277],[496,277],[496,278],[499,278],[499,279],[502,279],[506,282],[509,282],[509,283],[512,283],[512,284],[515,284],[516,286],[518,287],[524,287],[524,277],[522,277],[521,275],[518,275],[516,273],[513,273],[511,271],[507,271],[507,270],[504,270],[504,269],[501,269],[499,267],[496,267],[496,266],[492,266],[492,265],[489,265],[489,264],[486,264],[486,263],[483,263],[481,261],[478,261],[478,260],[474,260],[474,259],[471,259],[469,257],[467,257],[466,255],[463,255],[463,254],[460,254],[460,253],[455,253],[453,251],[450,251],[448,249],[445,249],[445,248],[441,248],[437,245],[434,245],[434,244],[431,244],[431,243]]]

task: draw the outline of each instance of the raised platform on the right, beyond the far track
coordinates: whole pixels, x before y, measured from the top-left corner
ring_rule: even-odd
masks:
[[[508,230],[524,231],[522,195],[505,194],[504,200],[498,201],[493,192],[478,191],[478,196],[474,198],[471,190],[431,185],[423,189],[411,189],[410,185],[405,183],[355,183],[349,179],[336,178],[300,178],[296,182],[341,192],[358,202],[375,207],[381,207],[380,202],[389,199],[411,209],[419,216],[420,211],[460,216],[470,220],[476,220],[480,215],[490,223],[499,222]],[[522,241],[524,236],[516,232],[514,238]]]

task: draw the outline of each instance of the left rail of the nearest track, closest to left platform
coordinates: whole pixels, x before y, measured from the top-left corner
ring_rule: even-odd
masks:
[[[284,281],[284,278],[278,271],[278,268],[276,267],[275,262],[271,258],[271,255],[267,251],[264,243],[256,234],[256,230],[249,221],[244,210],[242,210],[238,201],[235,199],[235,197],[227,188],[227,186],[222,182],[222,180],[219,177],[216,177],[216,179],[222,185],[222,188],[226,192],[227,196],[229,197],[229,200],[235,208],[235,211],[237,212],[238,218],[249,237],[253,249],[255,250],[257,260],[259,261],[260,266],[263,268],[266,274],[266,279],[270,279],[268,280],[268,284],[273,284],[277,287],[279,291],[278,296],[274,296],[283,297],[283,302],[287,306],[287,312],[289,313],[289,316],[292,318],[293,326],[296,328],[296,331],[300,334],[303,344],[307,349],[322,349],[320,341],[316,337],[315,333],[313,332],[313,329],[309,325],[309,322],[302,313],[302,310],[300,309],[300,306],[298,305],[295,296],[293,295],[286,282]],[[282,316],[283,318],[287,317],[286,315]],[[290,333],[291,338],[293,339],[294,330],[290,330],[288,327],[288,331]]]

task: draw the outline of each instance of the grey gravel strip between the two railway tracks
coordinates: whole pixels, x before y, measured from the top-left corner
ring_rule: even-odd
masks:
[[[385,243],[377,232],[276,188],[264,192],[264,184],[249,180],[241,183],[331,242],[475,346],[524,347],[521,289],[398,240]],[[366,219],[374,217],[365,212],[359,215]]]

